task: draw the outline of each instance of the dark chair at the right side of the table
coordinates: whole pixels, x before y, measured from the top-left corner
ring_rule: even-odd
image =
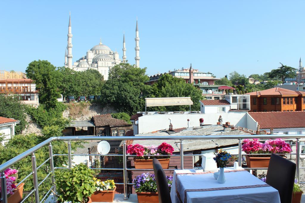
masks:
[[[292,201],[293,184],[296,177],[296,164],[278,156],[271,154],[266,183],[278,190],[281,203]]]

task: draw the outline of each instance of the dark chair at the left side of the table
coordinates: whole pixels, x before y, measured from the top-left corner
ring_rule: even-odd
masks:
[[[157,181],[158,198],[160,203],[171,203],[170,190],[167,184],[167,178],[158,159],[152,160],[153,170]]]

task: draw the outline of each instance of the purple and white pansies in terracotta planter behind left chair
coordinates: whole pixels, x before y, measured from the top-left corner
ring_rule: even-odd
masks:
[[[167,176],[167,184],[169,189],[173,181],[172,176]],[[137,176],[133,179],[133,187],[138,196],[138,202],[145,203],[156,203],[159,202],[157,183],[154,174],[142,173],[142,175]]]

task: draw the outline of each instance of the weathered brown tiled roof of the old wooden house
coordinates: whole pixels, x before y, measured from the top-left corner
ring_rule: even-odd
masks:
[[[92,119],[95,126],[131,126],[124,120],[113,118],[111,114],[93,116]]]

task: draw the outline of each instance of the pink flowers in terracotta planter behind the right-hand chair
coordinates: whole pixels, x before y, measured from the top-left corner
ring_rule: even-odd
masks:
[[[242,144],[242,151],[247,154],[288,154],[290,153],[291,147],[282,139],[275,140],[266,140],[263,143],[259,139],[244,139]],[[271,155],[262,155],[262,156],[251,156],[246,155],[246,162],[249,168],[267,168],[269,165]]]

